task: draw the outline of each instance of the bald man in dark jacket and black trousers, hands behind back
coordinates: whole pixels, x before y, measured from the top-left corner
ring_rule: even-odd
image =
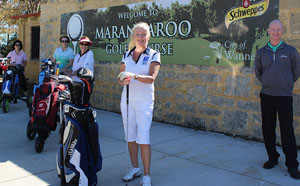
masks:
[[[260,91],[262,130],[269,160],[263,165],[271,169],[278,164],[276,120],[279,116],[285,164],[292,178],[300,179],[296,140],[293,128],[294,83],[300,75],[298,51],[282,41],[283,26],[279,20],[269,24],[270,41],[255,56],[255,74],[262,84]]]

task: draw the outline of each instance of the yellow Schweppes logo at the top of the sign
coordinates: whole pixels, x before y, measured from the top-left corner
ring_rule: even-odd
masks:
[[[226,28],[228,29],[229,25],[235,21],[263,15],[268,10],[269,1],[270,0],[264,0],[250,5],[249,0],[243,0],[241,7],[233,7],[226,13]]]

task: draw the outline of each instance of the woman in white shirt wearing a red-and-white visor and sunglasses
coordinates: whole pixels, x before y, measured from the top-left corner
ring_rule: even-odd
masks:
[[[87,36],[82,36],[80,38],[80,51],[75,55],[72,67],[72,75],[76,75],[78,69],[81,67],[88,68],[94,73],[94,53],[89,49],[92,44],[92,41]]]

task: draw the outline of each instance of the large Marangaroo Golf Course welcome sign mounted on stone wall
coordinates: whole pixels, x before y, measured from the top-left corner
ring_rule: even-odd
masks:
[[[278,6],[279,0],[150,1],[62,14],[61,34],[77,50],[78,39],[88,36],[96,61],[120,61],[133,25],[144,21],[163,63],[252,66]]]

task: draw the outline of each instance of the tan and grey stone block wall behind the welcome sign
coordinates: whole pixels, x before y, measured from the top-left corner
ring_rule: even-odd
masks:
[[[61,14],[95,8],[144,2],[142,0],[50,1],[41,11],[41,58],[52,56],[59,47]],[[285,27],[284,39],[300,50],[300,4],[280,0],[279,17]],[[121,59],[120,59],[121,60]],[[117,83],[119,61],[95,62],[96,84],[92,105],[120,112],[122,87]],[[171,65],[162,61],[155,82],[154,120],[195,129],[262,140],[260,83],[251,67]],[[300,146],[300,81],[294,91],[294,120]],[[279,134],[279,128],[277,128]],[[280,136],[278,143],[280,144]]]

